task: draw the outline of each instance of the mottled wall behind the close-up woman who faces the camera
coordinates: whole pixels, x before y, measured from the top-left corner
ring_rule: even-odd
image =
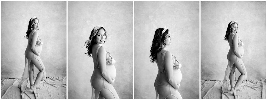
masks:
[[[107,30],[105,49],[116,60],[114,88],[120,98],[133,98],[133,2],[68,2],[68,98],[91,98],[93,59],[81,48],[92,29]]]

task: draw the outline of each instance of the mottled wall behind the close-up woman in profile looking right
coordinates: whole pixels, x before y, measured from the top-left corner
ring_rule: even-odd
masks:
[[[156,63],[150,62],[155,30],[167,26],[172,45],[167,50],[181,62],[180,94],[199,98],[199,2],[135,2],[135,98],[154,99]]]

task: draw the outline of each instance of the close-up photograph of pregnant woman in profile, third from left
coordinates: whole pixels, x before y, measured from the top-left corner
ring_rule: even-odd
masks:
[[[134,98],[199,99],[199,1],[134,6]]]

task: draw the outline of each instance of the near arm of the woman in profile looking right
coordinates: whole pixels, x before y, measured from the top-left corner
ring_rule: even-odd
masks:
[[[173,67],[172,67],[172,55],[170,51],[167,51],[164,57],[164,66],[166,70],[167,80],[171,84],[172,87],[175,89],[179,89],[179,86],[177,85],[174,76],[173,76]]]

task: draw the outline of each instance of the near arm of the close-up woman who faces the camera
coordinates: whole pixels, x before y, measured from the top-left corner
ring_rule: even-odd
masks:
[[[104,47],[100,47],[98,50],[98,63],[101,71],[101,75],[110,83],[113,84],[113,81],[111,77],[109,76],[109,73],[107,71],[107,64],[106,64],[106,50]]]

